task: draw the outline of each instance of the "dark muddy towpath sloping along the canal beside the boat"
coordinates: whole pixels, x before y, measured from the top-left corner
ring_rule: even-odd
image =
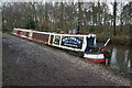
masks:
[[[130,86],[103,66],[52,47],[2,36],[3,86]]]

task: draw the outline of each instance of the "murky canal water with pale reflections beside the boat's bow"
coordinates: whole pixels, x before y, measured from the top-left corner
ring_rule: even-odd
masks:
[[[99,43],[99,45],[103,43]],[[108,44],[107,51],[110,53],[110,57],[108,58],[109,65],[112,69],[118,69],[122,73],[131,73],[131,57],[132,53],[130,54],[130,46],[124,45],[116,45],[116,44]]]

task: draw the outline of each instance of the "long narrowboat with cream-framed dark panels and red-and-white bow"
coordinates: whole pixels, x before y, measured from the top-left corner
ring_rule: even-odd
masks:
[[[98,47],[96,34],[50,33],[26,29],[13,29],[12,34],[51,46],[81,52],[84,53],[84,58],[95,63],[106,62],[106,45],[110,41],[109,38],[105,46]]]

